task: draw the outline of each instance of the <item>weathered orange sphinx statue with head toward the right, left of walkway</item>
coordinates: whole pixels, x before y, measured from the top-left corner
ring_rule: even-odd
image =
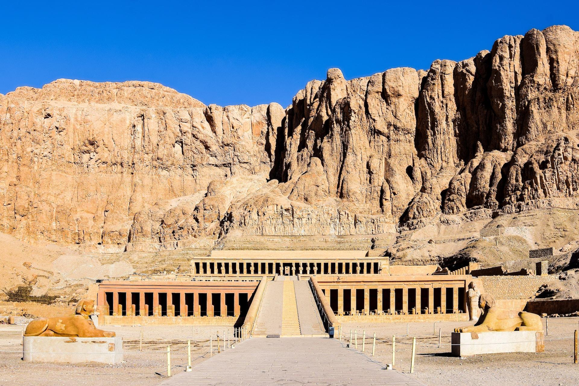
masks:
[[[38,318],[28,323],[24,336],[68,336],[80,338],[113,337],[112,331],[94,326],[90,315],[94,312],[94,301],[83,299],[76,304],[75,315],[67,317]]]

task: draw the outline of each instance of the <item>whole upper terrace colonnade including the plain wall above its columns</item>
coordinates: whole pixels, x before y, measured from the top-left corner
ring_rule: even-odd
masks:
[[[368,251],[211,251],[191,260],[192,275],[389,274],[389,260]]]

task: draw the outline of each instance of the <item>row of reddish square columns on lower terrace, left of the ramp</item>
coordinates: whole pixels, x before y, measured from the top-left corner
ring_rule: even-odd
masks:
[[[110,313],[109,304],[107,303],[106,293],[111,293],[109,291],[101,291],[99,296],[102,296],[101,299],[104,299],[104,310],[107,315]],[[119,291],[112,292],[112,315],[123,315],[122,304],[119,304]],[[141,316],[148,316],[149,315],[149,307],[148,304],[145,304],[145,293],[152,293],[153,294],[153,316],[161,316],[162,306],[159,304],[159,293],[166,293],[167,294],[167,316],[175,316],[175,306],[173,304],[173,294],[179,294],[179,316],[187,316],[189,314],[188,306],[185,302],[185,294],[192,294],[193,295],[193,315],[199,317],[201,316],[201,307],[199,304],[199,293],[206,293],[207,294],[207,316],[212,317],[214,316],[214,310],[212,305],[212,295],[217,293],[219,295],[219,300],[221,304],[220,314],[221,316],[226,316],[228,308],[225,302],[225,295],[226,293],[233,293],[233,315],[238,317],[240,315],[241,306],[239,303],[239,292],[190,292],[190,291],[179,291],[179,292],[151,292],[151,291],[131,291],[126,292],[126,315],[127,316],[135,316],[135,310],[137,309],[137,305],[133,304],[133,293],[139,294],[139,314]],[[245,292],[244,292],[245,293]],[[247,293],[247,299],[251,297],[251,293]],[[171,312],[172,311],[172,312]]]

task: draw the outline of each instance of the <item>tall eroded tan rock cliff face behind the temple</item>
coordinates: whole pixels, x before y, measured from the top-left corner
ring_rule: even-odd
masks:
[[[20,87],[0,95],[2,231],[147,250],[576,209],[578,71],[578,32],[555,26],[428,71],[329,69],[286,109],[147,82]]]

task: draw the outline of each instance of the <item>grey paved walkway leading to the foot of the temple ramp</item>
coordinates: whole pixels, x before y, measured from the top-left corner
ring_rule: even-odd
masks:
[[[252,338],[222,354],[179,372],[163,386],[269,386],[323,385],[372,386],[412,385],[395,370],[383,370],[337,339]]]

